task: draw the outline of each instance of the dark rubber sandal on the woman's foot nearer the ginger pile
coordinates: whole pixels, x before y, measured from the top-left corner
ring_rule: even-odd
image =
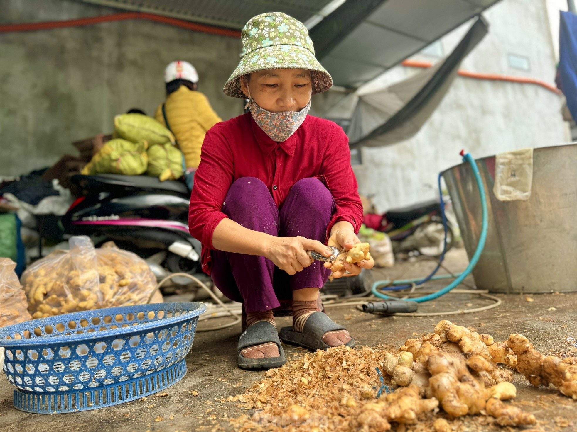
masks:
[[[323,342],[323,335],[335,330],[346,330],[346,328],[335,323],[325,313],[314,312],[306,319],[302,333],[293,331],[293,327],[283,327],[280,329],[280,339],[311,351],[327,350],[331,347]],[[344,346],[354,348],[355,340],[351,338]]]

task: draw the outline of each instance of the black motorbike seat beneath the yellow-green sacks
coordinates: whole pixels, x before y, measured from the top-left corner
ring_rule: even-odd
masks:
[[[125,176],[122,174],[96,174],[85,176],[81,174],[70,177],[72,183],[82,188],[132,187],[155,191],[171,191],[189,195],[190,191],[184,183],[176,180],[160,181],[152,176]]]

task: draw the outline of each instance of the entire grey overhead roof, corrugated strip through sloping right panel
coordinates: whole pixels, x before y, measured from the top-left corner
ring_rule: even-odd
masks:
[[[317,57],[335,85],[357,88],[499,0],[77,1],[234,29],[265,12],[310,20]]]

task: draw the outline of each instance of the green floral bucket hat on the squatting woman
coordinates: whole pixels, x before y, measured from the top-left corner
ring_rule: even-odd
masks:
[[[223,88],[228,96],[244,98],[240,77],[267,69],[310,70],[313,94],[331,88],[331,75],[314,57],[308,30],[295,18],[282,12],[257,15],[246,23],[241,39],[241,62]]]

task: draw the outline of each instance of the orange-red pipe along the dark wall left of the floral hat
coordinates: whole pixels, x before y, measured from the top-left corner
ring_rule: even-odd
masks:
[[[115,13],[110,15],[102,15],[98,17],[78,18],[77,20],[30,22],[25,24],[4,24],[0,25],[0,33],[31,32],[36,30],[78,27],[84,25],[99,24],[100,22],[125,21],[125,20],[148,20],[148,21],[162,22],[163,24],[181,27],[195,32],[211,33],[212,35],[231,36],[231,37],[239,37],[241,35],[241,32],[239,32],[238,30],[226,29],[212,25],[198,24],[196,22],[190,22],[185,20],[177,20],[176,18],[164,17],[145,12]]]

